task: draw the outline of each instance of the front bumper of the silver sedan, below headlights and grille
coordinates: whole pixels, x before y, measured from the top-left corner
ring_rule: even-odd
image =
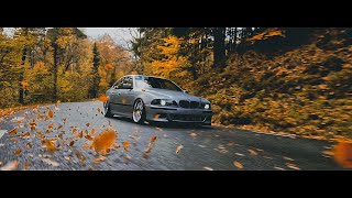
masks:
[[[157,122],[202,123],[210,125],[212,111],[206,109],[184,109],[174,107],[145,106],[146,120]]]

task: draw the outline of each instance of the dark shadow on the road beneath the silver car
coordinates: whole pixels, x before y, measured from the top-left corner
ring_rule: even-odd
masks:
[[[129,118],[113,117],[113,119],[136,124]],[[201,130],[211,130],[212,129],[211,125],[201,125],[201,124],[195,124],[195,123],[177,123],[177,122],[165,123],[165,122],[147,122],[147,121],[145,121],[143,125],[151,127],[151,128],[163,128],[163,129],[201,129]]]

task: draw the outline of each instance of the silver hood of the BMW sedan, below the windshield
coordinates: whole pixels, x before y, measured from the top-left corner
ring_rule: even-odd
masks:
[[[201,101],[201,102],[209,102],[209,100],[200,97],[196,97],[183,91],[174,91],[167,89],[147,89],[147,92],[154,95],[155,98],[158,99],[172,99],[172,100],[193,100],[193,101]]]

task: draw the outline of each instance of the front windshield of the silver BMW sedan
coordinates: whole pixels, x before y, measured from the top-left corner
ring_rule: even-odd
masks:
[[[136,76],[135,85],[140,88],[157,88],[182,91],[182,89],[177,87],[174,82],[162,78]]]

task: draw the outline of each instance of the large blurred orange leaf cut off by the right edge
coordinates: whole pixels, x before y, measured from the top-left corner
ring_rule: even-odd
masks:
[[[345,168],[352,168],[352,144],[340,141],[332,150],[334,160]]]

